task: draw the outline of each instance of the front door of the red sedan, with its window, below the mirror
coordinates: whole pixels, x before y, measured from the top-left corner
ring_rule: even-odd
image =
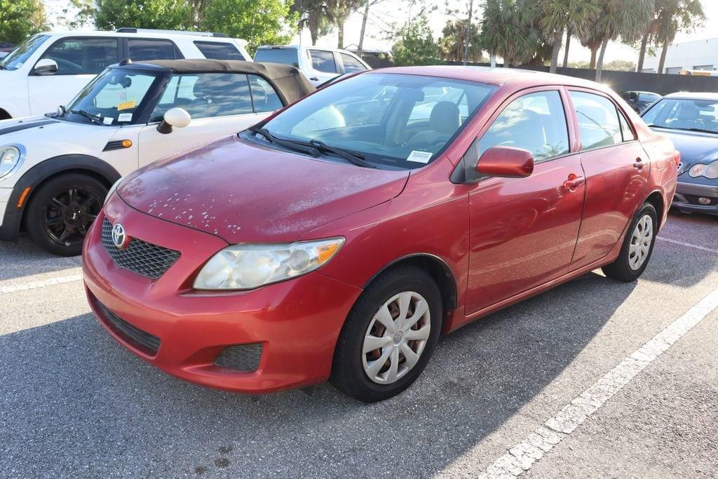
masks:
[[[526,178],[485,178],[469,196],[470,315],[566,274],[584,203],[583,172],[569,147],[561,90],[513,99],[472,149],[527,149],[536,162]]]

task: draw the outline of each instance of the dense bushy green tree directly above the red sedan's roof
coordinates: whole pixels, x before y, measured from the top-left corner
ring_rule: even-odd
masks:
[[[491,57],[503,57],[503,65],[528,62],[536,54],[541,32],[536,0],[484,0],[480,41]]]

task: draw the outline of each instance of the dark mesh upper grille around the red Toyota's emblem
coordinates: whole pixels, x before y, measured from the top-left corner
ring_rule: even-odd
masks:
[[[132,238],[126,248],[117,248],[112,242],[112,225],[107,219],[102,223],[102,244],[117,266],[149,279],[159,278],[180,259],[180,251],[137,238]]]

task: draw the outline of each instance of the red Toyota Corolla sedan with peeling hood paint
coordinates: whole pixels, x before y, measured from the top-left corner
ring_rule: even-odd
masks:
[[[442,333],[592,269],[637,279],[678,159],[597,83],[373,70],[122,180],[85,286],[119,343],[179,378],[379,401]]]

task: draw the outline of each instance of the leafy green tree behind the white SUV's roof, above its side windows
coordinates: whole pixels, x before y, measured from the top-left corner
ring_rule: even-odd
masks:
[[[195,27],[187,0],[72,0],[78,22],[100,30],[120,27],[191,30]]]

